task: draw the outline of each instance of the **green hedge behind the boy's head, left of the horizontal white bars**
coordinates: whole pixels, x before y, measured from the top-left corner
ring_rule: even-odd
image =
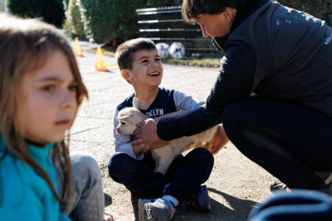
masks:
[[[172,1],[160,0],[80,0],[84,33],[98,43],[117,46],[137,38],[138,8],[159,7]]]

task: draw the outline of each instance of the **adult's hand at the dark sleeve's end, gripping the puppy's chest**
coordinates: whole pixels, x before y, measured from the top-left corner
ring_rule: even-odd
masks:
[[[143,153],[147,153],[147,151],[150,151],[151,148],[158,148],[169,143],[165,140],[161,140],[161,138],[158,137],[156,127],[157,123],[158,120],[149,118],[137,124],[137,129],[135,129],[133,133],[137,140],[134,140],[130,143],[133,148],[134,146],[143,144],[143,142],[145,142]]]

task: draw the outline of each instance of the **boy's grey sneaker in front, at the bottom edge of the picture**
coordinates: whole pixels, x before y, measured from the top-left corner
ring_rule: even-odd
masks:
[[[173,203],[163,198],[152,200],[139,199],[140,221],[166,221],[174,217],[175,208]]]

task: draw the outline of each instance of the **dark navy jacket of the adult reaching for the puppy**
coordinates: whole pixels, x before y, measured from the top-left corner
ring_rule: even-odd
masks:
[[[241,2],[230,34],[213,39],[226,54],[206,107],[159,120],[159,138],[209,129],[222,122],[227,103],[252,92],[332,117],[332,28],[276,2]]]

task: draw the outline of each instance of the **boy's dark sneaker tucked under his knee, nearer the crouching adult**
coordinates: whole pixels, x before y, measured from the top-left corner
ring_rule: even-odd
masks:
[[[211,211],[209,192],[206,185],[200,186],[198,192],[195,192],[187,200],[184,201],[185,204],[194,207],[199,211]]]

